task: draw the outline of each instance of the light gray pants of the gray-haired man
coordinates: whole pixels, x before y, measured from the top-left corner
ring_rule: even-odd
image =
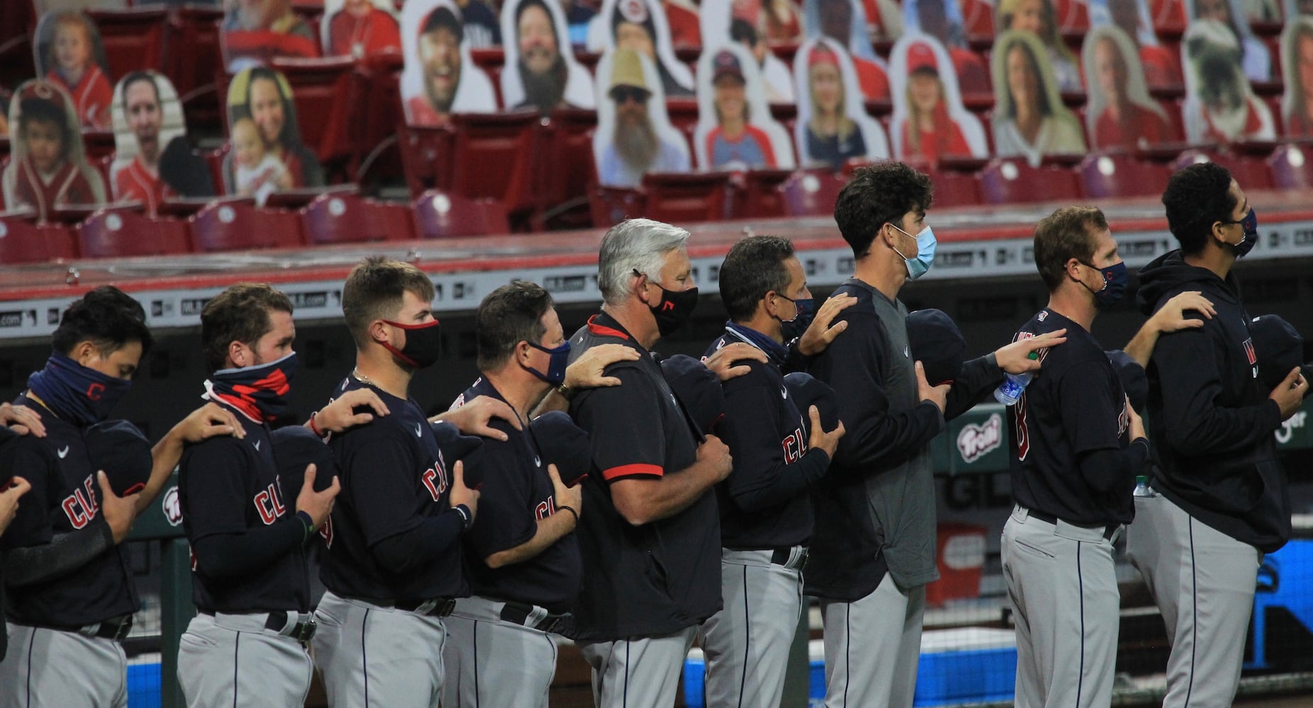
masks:
[[[592,704],[597,708],[670,708],[679,695],[684,659],[697,627],[668,635],[579,642],[592,666]]]

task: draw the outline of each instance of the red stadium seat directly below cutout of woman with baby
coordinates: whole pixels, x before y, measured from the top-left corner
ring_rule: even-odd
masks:
[[[198,211],[192,219],[192,240],[198,252],[305,245],[299,214],[256,208],[246,199],[215,202]]]

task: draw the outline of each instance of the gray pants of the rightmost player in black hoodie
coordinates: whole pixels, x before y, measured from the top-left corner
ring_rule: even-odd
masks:
[[[1230,705],[1263,555],[1191,518],[1162,494],[1136,497],[1127,555],[1167,625],[1163,707]]]

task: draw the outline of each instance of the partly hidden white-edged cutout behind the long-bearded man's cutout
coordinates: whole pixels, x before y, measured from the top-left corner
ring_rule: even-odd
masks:
[[[666,96],[693,96],[693,73],[675,58],[659,0],[605,0],[588,24],[588,49],[603,54],[632,49],[656,64]]]

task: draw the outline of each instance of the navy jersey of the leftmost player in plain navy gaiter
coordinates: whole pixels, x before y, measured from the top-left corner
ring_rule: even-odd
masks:
[[[24,435],[11,443],[12,469],[0,471],[0,477],[8,480],[18,475],[32,482],[32,490],[24,494],[13,523],[0,536],[0,548],[42,545],[58,535],[104,527],[97,467],[87,454],[83,430],[59,420],[26,396],[18,396],[13,403],[41,413],[46,437]],[[138,608],[137,589],[122,545],[97,555],[70,573],[9,587],[7,599],[5,612],[11,620],[60,628],[104,621]]]

